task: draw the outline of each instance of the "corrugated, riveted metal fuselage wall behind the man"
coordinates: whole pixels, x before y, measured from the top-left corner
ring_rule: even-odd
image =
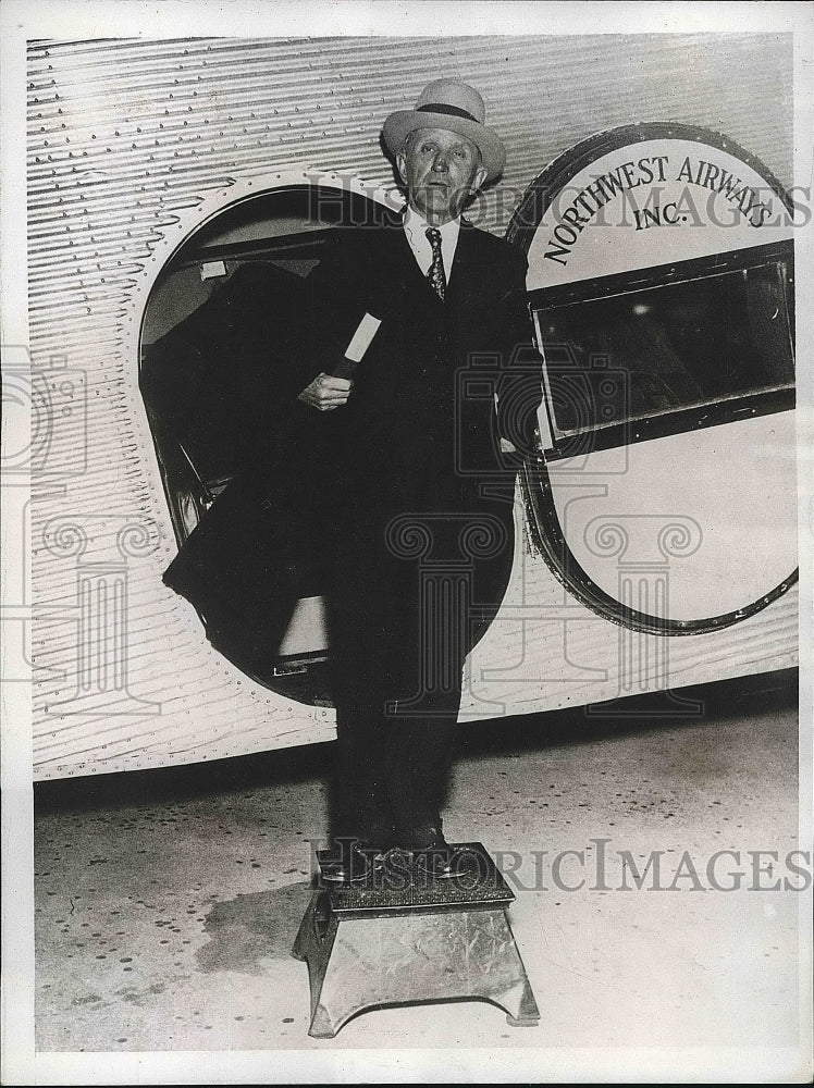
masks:
[[[790,38],[767,35],[32,45],[30,360],[41,426],[27,528],[34,589],[23,605],[36,620],[36,775],[332,735],[330,710],[255,685],[160,583],[175,543],[136,384],[138,335],[150,286],[190,231],[292,180],[392,197],[382,121],[441,75],[478,86],[507,146],[503,181],[471,211],[498,234],[550,160],[634,121],[720,129],[788,183],[790,50]],[[629,693],[617,629],[575,602],[568,620],[552,611],[563,591],[526,547],[521,521],[518,509],[513,583],[472,655],[464,717]],[[748,622],[671,645],[671,682],[793,664],[795,628],[789,592]]]

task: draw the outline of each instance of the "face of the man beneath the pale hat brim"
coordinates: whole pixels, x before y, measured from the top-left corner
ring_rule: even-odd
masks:
[[[446,128],[419,128],[396,156],[407,201],[433,226],[457,219],[486,171],[480,151],[466,136]]]

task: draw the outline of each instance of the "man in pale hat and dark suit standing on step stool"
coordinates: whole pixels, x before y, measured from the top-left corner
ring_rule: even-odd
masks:
[[[461,670],[514,552],[515,467],[495,407],[529,338],[523,255],[461,217],[505,162],[484,115],[456,79],[391,114],[383,140],[404,214],[337,231],[308,280],[306,348],[322,366],[298,400],[320,452],[333,573],[329,879],[365,879],[393,848],[433,878],[456,871],[441,806]],[[335,376],[347,375],[342,356],[366,314],[380,322],[370,346],[353,379]]]

